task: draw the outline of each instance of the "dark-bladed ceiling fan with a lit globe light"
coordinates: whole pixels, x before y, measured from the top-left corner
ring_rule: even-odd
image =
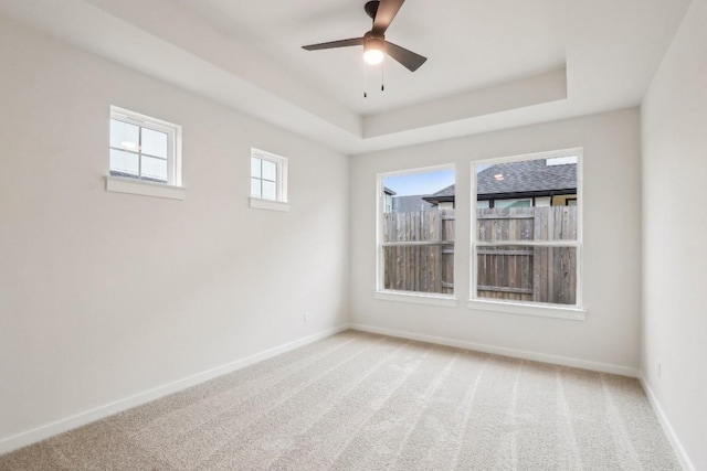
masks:
[[[390,23],[395,18],[395,14],[398,14],[398,10],[400,10],[404,1],[405,0],[372,0],[366,3],[366,13],[373,20],[373,28],[367,32],[363,38],[310,44],[302,46],[302,49],[319,51],[362,45],[363,60],[368,64],[379,64],[383,60],[384,54],[388,54],[410,72],[415,72],[428,58],[386,41],[386,30],[390,26]]]

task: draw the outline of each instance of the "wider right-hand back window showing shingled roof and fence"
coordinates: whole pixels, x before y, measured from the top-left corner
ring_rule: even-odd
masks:
[[[580,308],[581,151],[478,162],[473,181],[472,300]]]

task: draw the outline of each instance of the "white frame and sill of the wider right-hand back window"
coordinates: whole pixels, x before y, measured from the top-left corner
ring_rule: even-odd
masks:
[[[538,160],[538,159],[555,159],[559,157],[577,156],[577,202],[578,202],[578,220],[577,220],[577,240],[555,240],[551,243],[535,242],[528,244],[527,242],[504,243],[504,245],[532,245],[532,246],[571,246],[577,247],[577,303],[571,304],[550,304],[541,302],[519,302],[510,300],[493,300],[488,298],[476,297],[476,248],[479,245],[475,242],[476,237],[476,185],[477,174],[476,168],[478,165],[495,165],[498,163],[519,162],[524,160]],[[587,310],[583,307],[582,301],[582,272],[584,269],[583,260],[583,243],[582,243],[582,218],[583,218],[583,201],[582,197],[582,148],[562,149],[548,152],[536,152],[521,156],[509,156],[495,159],[478,160],[472,162],[472,205],[474,206],[471,212],[471,232],[469,232],[469,300],[467,308],[473,310],[486,311],[486,312],[500,312],[520,315],[535,315],[544,318],[555,319],[569,319],[569,320],[585,320]]]

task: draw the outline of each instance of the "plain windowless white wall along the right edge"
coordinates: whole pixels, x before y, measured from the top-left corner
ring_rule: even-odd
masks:
[[[644,383],[695,469],[703,470],[707,469],[706,1],[693,1],[645,97],[642,126]]]

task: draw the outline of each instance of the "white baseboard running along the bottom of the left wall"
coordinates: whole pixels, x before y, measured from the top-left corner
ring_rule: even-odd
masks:
[[[349,329],[348,325],[340,325],[338,328],[317,332],[315,334],[305,336],[304,339],[295,340],[284,345],[268,349],[264,352],[256,353],[245,358],[236,360],[225,365],[217,366],[215,368],[211,368],[205,372],[198,373],[196,375],[192,375],[182,379],[178,379],[173,383],[158,386],[152,389],[146,390],[144,393],[136,394],[130,397],[126,397],[125,399],[119,399],[119,400],[106,404],[104,406],[96,407],[94,409],[86,410],[81,414],[76,414],[75,416],[66,417],[61,420],[56,420],[51,424],[43,425],[41,427],[36,427],[32,430],[23,431],[21,433],[4,438],[0,440],[0,454],[7,453],[12,450],[17,450],[18,448],[22,448],[28,445],[35,443],[38,441],[41,441],[46,438],[53,437],[55,435],[62,433],[64,431],[74,429],[76,427],[91,424],[93,421],[103,419],[105,417],[112,416],[114,414],[129,409],[131,407],[140,406],[145,403],[149,403],[150,400],[158,399],[160,397],[167,396],[172,393],[177,393],[188,387],[196,386],[205,381],[234,372],[236,370],[241,370],[245,366],[250,366],[254,363],[262,362],[263,360],[267,360],[275,355],[279,355],[281,353],[285,353],[291,350],[297,349],[299,346],[304,346],[306,344],[316,342],[318,340],[325,339],[329,335],[334,335],[347,329]]]

